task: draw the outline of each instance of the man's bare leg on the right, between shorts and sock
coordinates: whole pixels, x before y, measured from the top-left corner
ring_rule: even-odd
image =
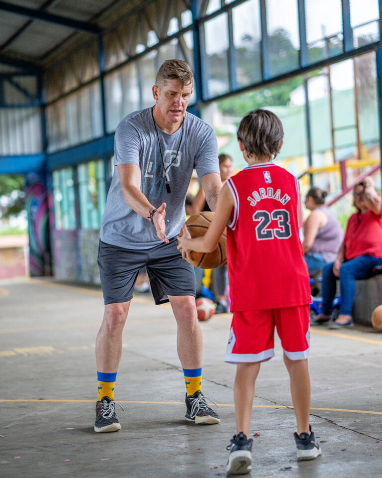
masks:
[[[190,295],[169,296],[178,325],[178,357],[183,368],[200,368],[203,339],[197,320],[195,298]]]

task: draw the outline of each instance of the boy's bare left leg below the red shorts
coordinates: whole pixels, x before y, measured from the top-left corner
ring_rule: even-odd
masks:
[[[237,364],[233,387],[236,416],[236,434],[243,432],[249,438],[255,382],[261,362]]]

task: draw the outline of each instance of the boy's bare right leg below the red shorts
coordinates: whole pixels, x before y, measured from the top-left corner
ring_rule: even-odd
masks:
[[[309,434],[310,378],[308,360],[291,360],[284,354],[290,377],[290,392],[297,421],[297,435]]]

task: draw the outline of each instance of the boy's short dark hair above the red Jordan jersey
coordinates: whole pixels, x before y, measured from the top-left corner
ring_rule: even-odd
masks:
[[[275,158],[283,144],[283,124],[271,111],[253,110],[239,124],[239,139],[248,156]]]

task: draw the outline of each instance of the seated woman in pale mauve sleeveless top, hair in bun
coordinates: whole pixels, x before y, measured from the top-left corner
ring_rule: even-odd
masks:
[[[322,189],[310,188],[305,198],[305,207],[311,213],[304,224],[302,248],[310,276],[334,261],[344,238],[338,219],[324,205],[326,195]]]

